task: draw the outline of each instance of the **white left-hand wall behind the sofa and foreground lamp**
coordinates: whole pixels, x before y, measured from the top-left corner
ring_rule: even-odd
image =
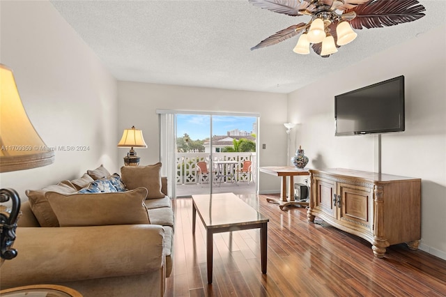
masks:
[[[0,60],[13,69],[26,112],[55,151],[46,167],[6,172],[1,188],[40,189],[78,178],[101,163],[116,170],[117,83],[48,1],[0,1]]]

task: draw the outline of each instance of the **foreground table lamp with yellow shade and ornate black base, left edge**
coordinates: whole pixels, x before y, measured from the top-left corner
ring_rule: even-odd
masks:
[[[26,115],[15,84],[13,70],[0,64],[0,172],[42,167],[54,162],[49,150]],[[15,241],[20,196],[13,189],[0,190],[0,203],[10,201],[7,208],[0,205],[1,264],[17,256],[12,248]]]

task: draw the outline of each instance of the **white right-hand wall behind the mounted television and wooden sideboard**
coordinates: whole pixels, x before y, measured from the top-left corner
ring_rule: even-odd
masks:
[[[382,172],[422,178],[422,250],[446,259],[446,28],[380,52],[289,94],[309,167],[375,171],[376,136],[334,137],[334,96],[405,76],[406,131],[382,135]],[[435,41],[437,40],[437,41]],[[348,46],[348,45],[346,45]],[[329,58],[330,59],[330,58]]]

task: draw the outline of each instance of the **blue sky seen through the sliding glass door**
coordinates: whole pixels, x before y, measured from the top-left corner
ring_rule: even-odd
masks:
[[[250,116],[212,116],[213,135],[226,135],[230,130],[252,131],[255,117]],[[210,116],[201,114],[177,114],[176,135],[187,133],[192,140],[203,140],[210,135]]]

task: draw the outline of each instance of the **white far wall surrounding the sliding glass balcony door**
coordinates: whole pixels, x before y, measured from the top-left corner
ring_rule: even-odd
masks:
[[[134,125],[144,133],[148,148],[136,148],[142,165],[159,160],[159,127],[155,109],[259,113],[259,141],[266,144],[266,149],[259,149],[260,166],[284,165],[286,162],[286,129],[283,124],[286,122],[286,94],[118,82],[118,102],[119,129]],[[119,148],[118,162],[123,162],[122,157],[127,152],[128,149]],[[260,192],[277,192],[280,189],[277,177],[260,174],[259,178]]]

